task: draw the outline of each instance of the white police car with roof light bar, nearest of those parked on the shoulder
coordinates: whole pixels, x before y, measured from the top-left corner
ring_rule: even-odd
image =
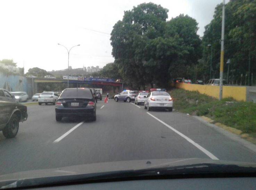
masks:
[[[151,88],[150,91],[145,99],[144,109],[151,111],[154,108],[165,108],[172,111],[173,100],[165,89]]]

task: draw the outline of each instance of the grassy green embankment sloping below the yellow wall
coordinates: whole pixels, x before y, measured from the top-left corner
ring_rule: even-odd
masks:
[[[256,138],[256,104],[253,102],[237,102],[232,98],[219,101],[210,96],[191,92],[184,89],[170,91],[173,97],[173,108],[190,115],[207,116],[213,123],[222,123],[226,126],[249,133]]]

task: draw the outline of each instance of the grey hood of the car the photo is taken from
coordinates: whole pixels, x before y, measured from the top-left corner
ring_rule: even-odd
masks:
[[[53,169],[43,170],[31,170],[24,172],[17,172],[11,174],[0,175],[0,187],[4,185],[12,184],[15,187],[17,181],[23,180],[35,180],[46,177],[57,177],[57,176],[72,176],[77,174],[100,174],[104,172],[115,172],[115,171],[137,171],[145,169],[159,169],[165,167],[176,167],[176,166],[189,166],[196,164],[216,164],[216,165],[236,165],[239,167],[248,167],[255,169],[256,163],[247,162],[233,162],[233,161],[220,161],[213,159],[203,158],[182,158],[182,159],[146,159],[146,160],[132,160],[132,161],[118,161],[118,162],[104,162],[104,163],[93,163],[74,165],[66,167],[58,167]],[[9,188],[10,186],[6,186]]]

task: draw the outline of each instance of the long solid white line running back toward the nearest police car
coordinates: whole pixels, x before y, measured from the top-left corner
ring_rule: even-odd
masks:
[[[193,141],[192,139],[190,139],[189,137],[185,136],[183,133],[181,133],[180,131],[174,129],[173,127],[169,126],[167,123],[163,122],[162,120],[158,119],[156,116],[150,114],[147,112],[147,114],[149,114],[152,118],[155,118],[157,121],[159,121],[160,123],[164,124],[166,127],[168,127],[169,129],[173,130],[174,132],[176,132],[178,135],[180,135],[181,137],[183,137],[184,139],[186,139],[187,141],[189,141],[189,143],[191,143],[192,145],[194,145],[195,147],[197,147],[199,150],[201,150],[203,153],[205,153],[207,156],[209,156],[212,159],[216,159],[218,160],[218,158],[216,156],[214,156],[212,153],[210,153],[208,150],[206,150],[205,148],[201,147],[199,144],[197,144],[195,141]]]

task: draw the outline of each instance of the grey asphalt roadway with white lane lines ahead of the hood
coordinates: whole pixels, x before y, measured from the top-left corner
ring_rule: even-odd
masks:
[[[0,174],[158,158],[256,162],[255,152],[175,111],[148,113],[142,105],[109,99],[98,101],[95,122],[76,118],[56,122],[54,105],[27,109],[28,120],[20,123],[15,138],[0,134]]]

